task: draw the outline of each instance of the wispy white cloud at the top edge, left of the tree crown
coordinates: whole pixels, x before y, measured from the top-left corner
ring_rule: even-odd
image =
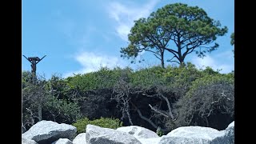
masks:
[[[143,6],[125,6],[119,2],[111,2],[107,10],[110,18],[118,23],[116,26],[118,36],[128,41],[127,35],[130,33],[130,28],[134,26],[134,20],[148,17],[158,2],[159,0],[150,0]]]

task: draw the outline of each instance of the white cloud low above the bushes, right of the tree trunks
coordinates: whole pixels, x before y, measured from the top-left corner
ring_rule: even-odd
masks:
[[[222,74],[230,73],[232,70],[234,70],[234,64],[229,65],[225,62],[218,62],[218,60],[210,57],[209,55],[206,55],[204,58],[194,56],[191,59],[191,62],[199,69],[205,69],[206,66],[210,66],[214,70],[221,70],[220,73]]]

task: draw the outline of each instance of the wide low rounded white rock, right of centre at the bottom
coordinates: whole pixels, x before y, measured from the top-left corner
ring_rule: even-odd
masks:
[[[221,135],[220,131],[210,127],[182,126],[162,136],[158,144],[210,144],[214,138]]]

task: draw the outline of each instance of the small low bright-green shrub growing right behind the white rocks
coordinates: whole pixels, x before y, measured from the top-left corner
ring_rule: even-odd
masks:
[[[122,122],[118,118],[99,118],[94,119],[93,121],[90,121],[88,118],[82,118],[72,125],[77,128],[77,134],[80,134],[86,132],[86,126],[88,124],[110,129],[117,129],[118,127],[122,127]]]

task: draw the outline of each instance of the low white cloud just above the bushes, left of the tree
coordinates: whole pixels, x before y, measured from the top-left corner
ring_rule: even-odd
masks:
[[[101,67],[108,67],[110,69],[119,66],[124,67],[126,65],[122,59],[118,57],[108,56],[104,54],[95,54],[92,52],[82,52],[75,56],[75,60],[82,65],[81,70],[64,74],[64,78],[72,76],[74,74],[86,74],[99,70]]]

